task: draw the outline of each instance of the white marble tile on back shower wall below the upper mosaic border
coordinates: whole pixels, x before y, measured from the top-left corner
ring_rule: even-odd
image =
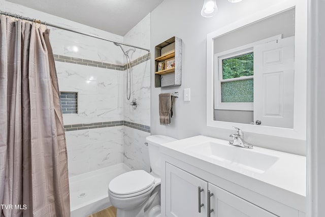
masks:
[[[123,120],[123,71],[55,65],[60,90],[78,92],[78,114],[64,114],[64,125]],[[123,162],[123,126],[67,131],[66,137],[70,176]]]

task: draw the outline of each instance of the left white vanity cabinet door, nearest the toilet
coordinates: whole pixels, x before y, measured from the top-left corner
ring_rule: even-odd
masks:
[[[202,192],[199,193],[199,187]],[[166,215],[168,217],[207,216],[208,183],[166,163]],[[201,198],[201,212],[199,200]]]

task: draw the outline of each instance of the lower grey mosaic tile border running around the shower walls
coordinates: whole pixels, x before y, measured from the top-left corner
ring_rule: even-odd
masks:
[[[141,125],[141,123],[134,123],[125,120],[107,121],[107,122],[95,122],[95,123],[78,123],[75,125],[64,125],[64,131],[77,131],[88,130],[96,128],[109,128],[116,126],[126,126],[136,130],[141,130],[150,133],[150,126]]]

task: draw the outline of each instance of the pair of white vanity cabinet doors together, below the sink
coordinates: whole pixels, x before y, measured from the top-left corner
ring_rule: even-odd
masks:
[[[209,208],[210,215],[208,215]],[[277,215],[166,163],[166,216],[274,217]]]

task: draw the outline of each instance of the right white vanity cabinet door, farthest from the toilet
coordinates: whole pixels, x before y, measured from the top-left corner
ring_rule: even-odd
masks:
[[[224,191],[209,183],[208,189],[213,195],[210,206],[211,217],[275,217],[277,215],[266,211],[236,195]]]

